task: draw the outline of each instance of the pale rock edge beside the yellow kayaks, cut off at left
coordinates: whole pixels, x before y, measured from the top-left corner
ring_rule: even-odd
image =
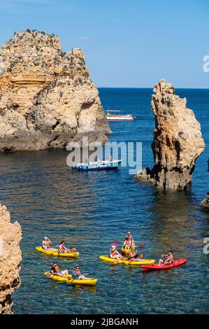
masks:
[[[0,204],[0,314],[12,314],[11,294],[20,286],[20,225],[10,223],[10,214]]]

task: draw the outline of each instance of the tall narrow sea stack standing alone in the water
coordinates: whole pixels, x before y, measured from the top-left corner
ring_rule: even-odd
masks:
[[[192,180],[196,159],[205,144],[201,126],[187,99],[175,94],[171,83],[160,80],[152,95],[155,129],[152,152],[154,167],[138,172],[138,180],[147,180],[165,189],[182,190]]]

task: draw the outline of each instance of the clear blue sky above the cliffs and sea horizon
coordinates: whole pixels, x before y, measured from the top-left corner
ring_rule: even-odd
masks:
[[[54,33],[85,52],[99,87],[209,87],[208,0],[0,0],[0,43],[14,31]]]

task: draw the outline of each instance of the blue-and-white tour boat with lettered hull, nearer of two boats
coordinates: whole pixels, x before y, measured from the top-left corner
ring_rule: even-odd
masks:
[[[122,162],[122,160],[85,162],[85,163],[77,163],[77,164],[73,165],[72,168],[82,170],[82,171],[117,169],[118,164],[120,162]]]

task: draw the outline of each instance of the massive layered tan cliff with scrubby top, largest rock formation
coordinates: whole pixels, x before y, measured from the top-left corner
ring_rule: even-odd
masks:
[[[82,50],[62,52],[59,38],[15,33],[0,50],[0,151],[64,148],[110,133]]]

